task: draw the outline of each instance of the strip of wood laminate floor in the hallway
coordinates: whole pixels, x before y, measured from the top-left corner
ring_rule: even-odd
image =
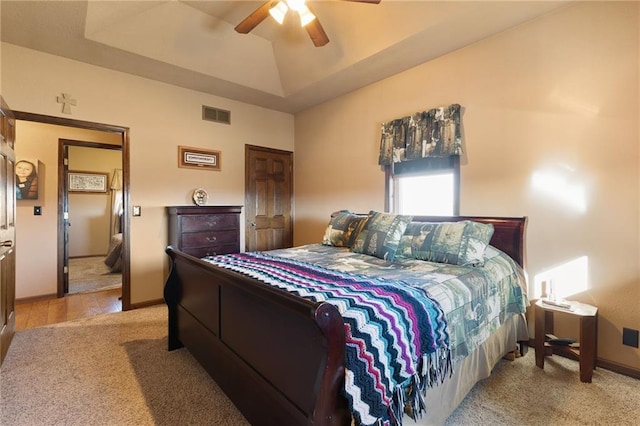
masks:
[[[16,302],[16,331],[122,311],[121,288]]]

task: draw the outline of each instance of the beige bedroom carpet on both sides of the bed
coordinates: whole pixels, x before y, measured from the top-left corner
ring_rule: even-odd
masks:
[[[186,349],[167,351],[166,307],[20,331],[0,370],[2,425],[246,425]],[[448,425],[637,425],[640,382],[575,361],[501,361]],[[405,425],[411,425],[410,419]]]

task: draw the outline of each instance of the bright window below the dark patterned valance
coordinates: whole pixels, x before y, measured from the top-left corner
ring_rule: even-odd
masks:
[[[416,216],[460,212],[460,157],[423,158],[387,167],[389,211]]]

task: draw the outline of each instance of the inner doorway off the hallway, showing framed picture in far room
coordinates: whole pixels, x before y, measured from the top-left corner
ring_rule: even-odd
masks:
[[[64,293],[121,289],[122,147],[69,139],[59,144],[58,167],[67,177],[58,181]]]

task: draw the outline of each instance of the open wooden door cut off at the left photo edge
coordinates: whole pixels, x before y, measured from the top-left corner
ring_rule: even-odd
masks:
[[[16,329],[15,120],[0,97],[0,365]]]

